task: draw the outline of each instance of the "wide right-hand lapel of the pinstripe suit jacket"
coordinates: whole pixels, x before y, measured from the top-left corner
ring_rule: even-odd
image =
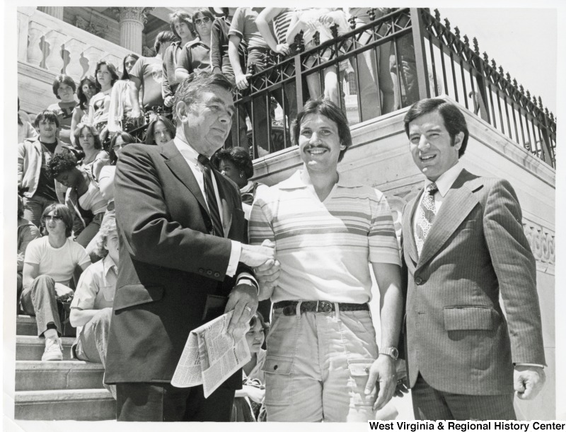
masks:
[[[422,267],[438,252],[456,228],[470,214],[470,211],[478,204],[478,198],[473,194],[473,190],[466,185],[468,180],[474,178],[476,178],[475,175],[462,170],[454,181],[446,197],[444,197],[444,202],[442,202],[436,218],[434,218],[427,240],[424,240],[417,267]]]

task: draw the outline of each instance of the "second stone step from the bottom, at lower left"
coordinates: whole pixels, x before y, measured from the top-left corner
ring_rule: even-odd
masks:
[[[16,392],[103,388],[104,368],[87,361],[16,361]]]

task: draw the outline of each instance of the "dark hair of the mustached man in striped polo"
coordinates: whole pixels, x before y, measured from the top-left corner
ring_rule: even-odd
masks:
[[[293,122],[293,140],[295,145],[299,145],[299,136],[301,131],[301,122],[309,114],[320,114],[336,123],[338,128],[338,137],[340,144],[345,146],[344,150],[340,151],[338,162],[342,160],[347,149],[352,146],[352,134],[350,134],[350,127],[348,126],[348,119],[342,110],[333,102],[328,99],[309,99],[306,101],[303,110],[296,115]]]

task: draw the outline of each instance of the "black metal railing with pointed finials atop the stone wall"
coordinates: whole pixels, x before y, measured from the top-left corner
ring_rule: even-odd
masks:
[[[265,69],[250,71],[253,73],[248,80],[250,88],[236,91],[235,98],[238,112],[246,110],[253,125],[248,134],[249,144],[239,144],[249,145],[254,158],[292,145],[290,125],[296,110],[290,110],[289,105],[295,103],[300,109],[304,104],[309,76],[318,74],[319,91],[322,91],[323,74],[332,68],[340,93],[337,103],[352,123],[376,116],[375,112],[366,114],[367,104],[376,104],[378,115],[391,112],[391,104],[382,100],[391,85],[393,110],[421,98],[444,94],[555,168],[556,118],[543,107],[541,98],[531,97],[508,73],[504,75],[494,60],[488,62],[487,54],[480,56],[477,40],[470,47],[466,35],[462,38],[458,28],[453,33],[448,20],[441,23],[438,11],[433,16],[427,8],[399,8],[377,14],[376,9],[369,9],[368,12],[369,23],[356,25],[352,18],[352,30],[345,35],[335,35],[322,44],[315,40],[314,47],[306,50],[299,40],[290,57],[266,55]],[[389,59],[389,76],[378,76],[376,65],[380,56],[381,62],[384,57]],[[343,66],[345,62],[354,74],[356,91],[352,107],[346,106],[344,99],[344,70],[340,64]],[[361,62],[369,62],[375,68],[371,98],[363,91],[369,87],[367,77],[364,81],[361,76],[364,66]],[[282,107],[280,124],[274,123],[272,110],[267,110],[272,96],[276,96]],[[254,110],[257,106],[267,112],[260,121],[254,118],[258,117],[258,110]],[[241,122],[244,116],[236,117]]]

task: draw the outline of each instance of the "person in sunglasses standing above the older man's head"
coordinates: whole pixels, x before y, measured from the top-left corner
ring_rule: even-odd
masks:
[[[200,8],[192,16],[192,21],[195,23],[198,37],[187,43],[179,54],[177,67],[175,67],[175,78],[179,82],[192,74],[212,71],[210,63],[210,30],[212,30],[214,16],[208,8]]]

